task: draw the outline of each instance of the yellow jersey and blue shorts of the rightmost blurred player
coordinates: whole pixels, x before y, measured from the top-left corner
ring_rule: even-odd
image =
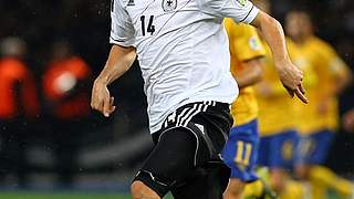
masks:
[[[335,96],[336,77],[348,72],[347,65],[335,53],[334,49],[323,40],[311,36],[298,44],[300,51],[313,65],[317,82],[306,88],[310,103],[301,106],[302,121],[299,121],[301,157],[306,164],[323,164],[339,126],[339,102]],[[321,112],[319,104],[329,98],[326,112]]]

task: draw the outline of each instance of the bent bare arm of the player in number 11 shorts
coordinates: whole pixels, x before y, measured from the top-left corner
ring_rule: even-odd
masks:
[[[253,85],[262,78],[261,57],[244,61],[242,64],[244,64],[244,70],[232,74],[240,88]]]

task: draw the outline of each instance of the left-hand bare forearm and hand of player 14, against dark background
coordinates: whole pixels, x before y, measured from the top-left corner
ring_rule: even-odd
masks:
[[[121,77],[129,67],[136,57],[134,48],[113,45],[107,62],[95,80],[92,88],[91,107],[108,117],[114,111],[114,98],[111,97],[107,85]]]

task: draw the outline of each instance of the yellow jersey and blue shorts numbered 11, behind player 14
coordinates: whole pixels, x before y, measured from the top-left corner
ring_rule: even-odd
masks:
[[[264,49],[254,28],[237,24],[231,19],[225,20],[231,54],[231,73],[233,76],[244,70],[242,62],[264,55]],[[233,127],[229,140],[222,151],[223,161],[231,168],[231,178],[242,181],[258,179],[253,172],[257,163],[258,105],[252,86],[240,90],[239,97],[231,106]]]

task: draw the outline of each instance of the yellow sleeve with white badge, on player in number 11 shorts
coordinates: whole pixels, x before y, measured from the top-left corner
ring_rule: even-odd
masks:
[[[237,24],[231,19],[225,20],[225,27],[229,35],[230,51],[237,60],[248,61],[264,56],[266,51],[256,29],[248,24]]]

